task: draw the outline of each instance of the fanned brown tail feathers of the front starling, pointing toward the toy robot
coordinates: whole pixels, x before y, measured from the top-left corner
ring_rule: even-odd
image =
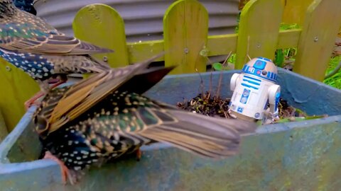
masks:
[[[181,110],[167,112],[178,122],[164,121],[139,134],[208,158],[226,158],[237,154],[240,134],[256,129],[255,123],[242,120],[217,119]]]

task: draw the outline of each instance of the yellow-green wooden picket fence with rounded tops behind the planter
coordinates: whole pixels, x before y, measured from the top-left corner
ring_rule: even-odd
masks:
[[[82,8],[72,27],[81,40],[115,50],[95,55],[106,59],[112,67],[141,62],[166,51],[159,60],[165,61],[166,66],[179,65],[172,74],[194,73],[196,69],[203,72],[207,57],[234,52],[235,68],[241,69],[248,55],[274,59],[277,49],[297,47],[293,70],[322,81],[341,26],[341,1],[313,0],[305,13],[303,27],[294,30],[279,30],[283,8],[281,0],[251,0],[242,10],[239,32],[227,35],[207,35],[208,13],[195,0],[175,1],[166,10],[163,40],[126,42],[121,16],[103,4]],[[3,89],[0,108],[7,127],[12,129],[23,115],[23,102],[38,91],[38,86],[6,62],[1,64],[0,74]]]

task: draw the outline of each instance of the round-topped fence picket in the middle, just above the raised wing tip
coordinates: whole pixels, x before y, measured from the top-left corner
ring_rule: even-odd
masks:
[[[195,0],[180,0],[163,17],[165,65],[178,65],[171,74],[206,71],[207,58],[200,54],[207,44],[208,13]]]

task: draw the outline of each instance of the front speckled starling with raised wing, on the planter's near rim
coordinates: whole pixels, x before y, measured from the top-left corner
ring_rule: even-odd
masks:
[[[59,158],[67,177],[125,154],[139,156],[140,146],[157,141],[225,158],[237,153],[240,134],[254,132],[254,123],[186,112],[141,96],[173,67],[134,66],[55,88],[43,99],[36,131],[48,149],[45,158]]]

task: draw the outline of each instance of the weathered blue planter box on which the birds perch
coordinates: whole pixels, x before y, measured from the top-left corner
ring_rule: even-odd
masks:
[[[231,96],[224,72],[222,96]],[[213,73],[213,89],[219,72]],[[201,74],[206,90],[210,74]],[[0,190],[339,190],[341,182],[341,91],[279,69],[282,96],[318,120],[260,127],[244,136],[237,156],[212,161],[165,144],[144,147],[134,158],[92,168],[75,186],[61,183],[54,161],[36,160],[32,108],[0,145]],[[167,76],[147,96],[175,104],[200,91],[198,74]]]

